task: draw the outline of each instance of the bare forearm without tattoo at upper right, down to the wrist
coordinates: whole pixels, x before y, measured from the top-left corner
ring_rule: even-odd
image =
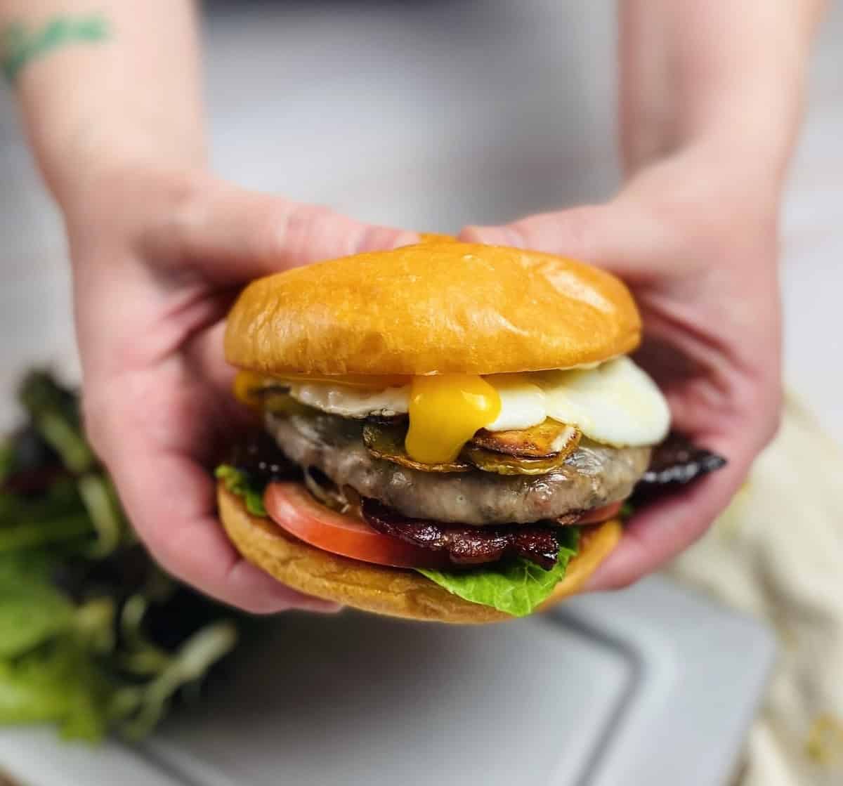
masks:
[[[814,3],[816,4],[816,3]],[[781,179],[803,110],[812,3],[626,0],[621,147],[630,173],[690,148]],[[809,24],[811,23],[811,24]]]

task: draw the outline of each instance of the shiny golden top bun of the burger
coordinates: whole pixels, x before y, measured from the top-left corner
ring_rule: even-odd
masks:
[[[428,240],[251,283],[225,353],[263,374],[505,374],[607,360],[640,339],[631,294],[603,270]]]

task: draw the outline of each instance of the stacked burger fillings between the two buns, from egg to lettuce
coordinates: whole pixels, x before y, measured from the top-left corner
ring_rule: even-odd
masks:
[[[235,392],[271,436],[218,473],[252,513],[514,615],[552,593],[583,532],[618,513],[669,428],[663,396],[629,358],[485,377],[241,373]],[[298,492],[273,483],[291,471],[312,495],[298,498],[308,514],[294,526]]]

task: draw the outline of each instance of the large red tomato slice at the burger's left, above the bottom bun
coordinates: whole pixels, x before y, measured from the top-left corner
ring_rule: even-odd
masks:
[[[365,521],[325,508],[300,483],[270,483],[264,506],[283,530],[325,552],[393,568],[454,567],[447,554],[383,535]]]

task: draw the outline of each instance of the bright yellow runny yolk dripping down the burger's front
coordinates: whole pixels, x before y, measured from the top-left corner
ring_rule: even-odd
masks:
[[[453,461],[479,428],[495,421],[501,397],[479,376],[413,377],[409,411],[407,454],[423,464],[443,464]]]

